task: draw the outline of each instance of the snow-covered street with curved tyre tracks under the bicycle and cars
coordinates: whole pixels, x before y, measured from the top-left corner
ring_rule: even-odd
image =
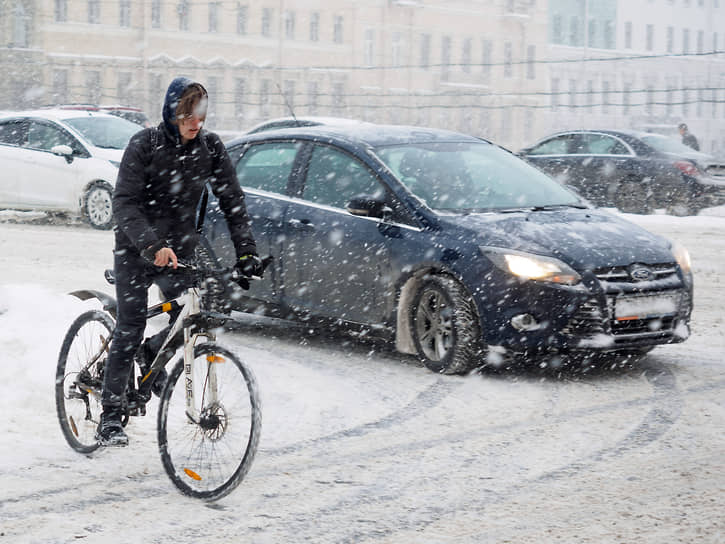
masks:
[[[0,544],[725,541],[725,213],[629,216],[685,244],[693,336],[636,367],[438,376],[383,345],[275,322],[223,341],[264,403],[250,474],[181,496],[155,407],[131,446],[64,442],[53,377],[70,321],[109,291],[112,236],[0,214]]]

